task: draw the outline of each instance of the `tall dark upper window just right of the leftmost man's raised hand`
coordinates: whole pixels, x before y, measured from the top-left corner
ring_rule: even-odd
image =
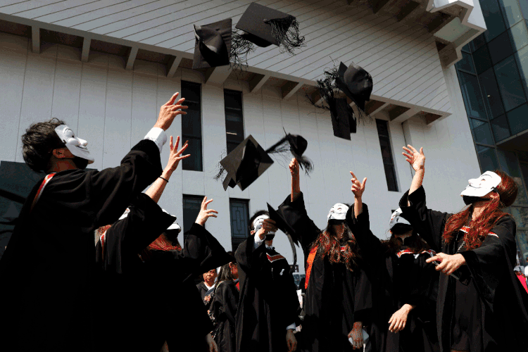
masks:
[[[182,141],[189,141],[182,161],[183,170],[202,171],[201,153],[201,84],[182,81],[182,97],[185,98],[187,115],[182,115]]]

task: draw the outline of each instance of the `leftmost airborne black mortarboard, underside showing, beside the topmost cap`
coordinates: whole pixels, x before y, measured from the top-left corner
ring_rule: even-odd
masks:
[[[192,69],[230,64],[232,19],[210,25],[194,25],[194,60]]]

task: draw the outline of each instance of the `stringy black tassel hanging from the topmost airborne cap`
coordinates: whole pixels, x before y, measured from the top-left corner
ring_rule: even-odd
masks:
[[[295,55],[294,50],[304,44],[304,37],[299,33],[297,19],[292,15],[285,18],[275,18],[273,20],[264,20],[271,25],[271,34],[279,42],[279,51]]]

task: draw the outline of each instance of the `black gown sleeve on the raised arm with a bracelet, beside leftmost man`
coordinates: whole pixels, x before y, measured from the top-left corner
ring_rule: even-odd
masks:
[[[143,193],[128,208],[127,217],[114,222],[97,241],[96,262],[103,270],[122,274],[126,258],[137,257],[175,221],[175,217]]]

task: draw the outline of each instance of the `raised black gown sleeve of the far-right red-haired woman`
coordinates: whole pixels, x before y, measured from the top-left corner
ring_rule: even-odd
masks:
[[[410,206],[407,205],[409,201]],[[410,225],[420,234],[431,248],[438,252],[442,251],[442,234],[446,221],[451,217],[450,213],[441,213],[427,208],[425,203],[425,189],[420,186],[416,191],[409,194],[406,191],[400,199],[399,206],[403,216],[409,220]]]

